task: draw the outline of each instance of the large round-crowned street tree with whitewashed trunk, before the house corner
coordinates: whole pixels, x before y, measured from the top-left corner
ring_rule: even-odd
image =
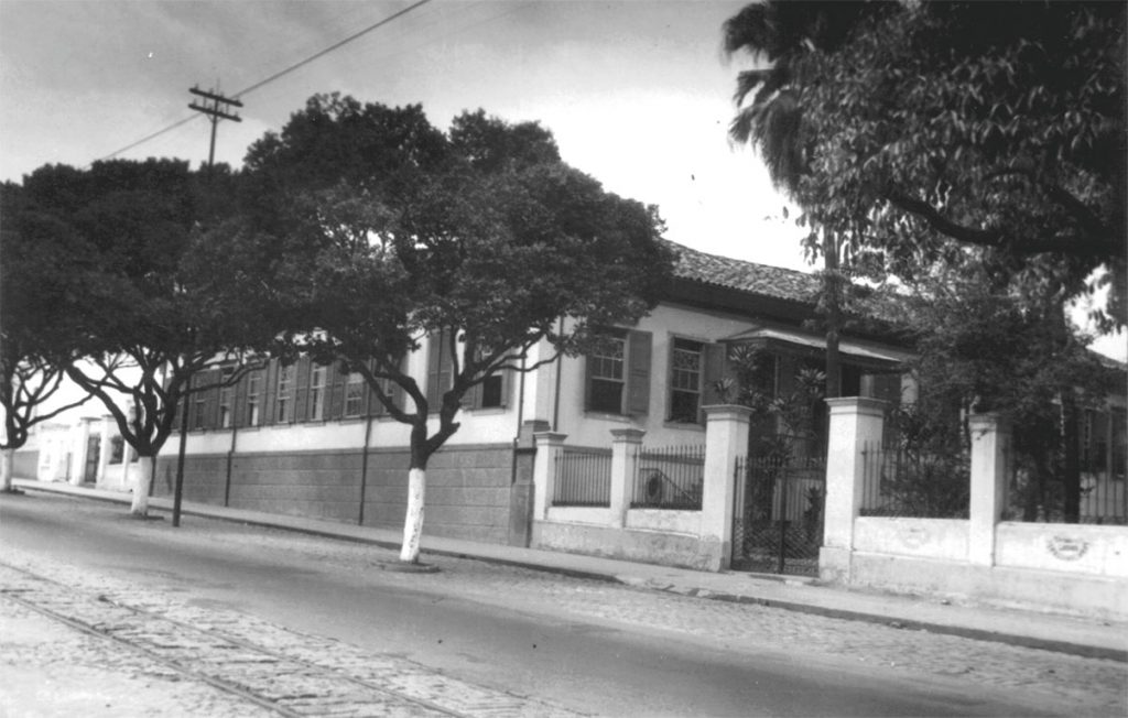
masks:
[[[535,123],[477,112],[443,133],[418,106],[315,96],[250,148],[247,174],[247,221],[285,257],[292,351],[359,372],[411,427],[403,561],[467,396],[554,358],[527,362],[537,345],[575,354],[637,320],[672,271],[655,211],[563,163]],[[449,357],[442,385],[403,366],[424,337]]]

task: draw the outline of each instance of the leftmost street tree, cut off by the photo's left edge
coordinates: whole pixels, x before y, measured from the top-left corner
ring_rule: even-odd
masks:
[[[16,450],[36,424],[83,404],[55,404],[63,369],[50,363],[61,337],[54,328],[67,292],[62,267],[74,259],[76,242],[52,218],[27,205],[21,188],[0,185],[0,406],[3,452],[0,490],[14,493]],[[50,407],[50,408],[49,408]]]

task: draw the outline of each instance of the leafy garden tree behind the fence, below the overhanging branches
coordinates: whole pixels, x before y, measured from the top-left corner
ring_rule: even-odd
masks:
[[[901,323],[915,334],[911,371],[919,385],[916,404],[890,417],[901,447],[966,455],[967,417],[1001,413],[1014,427],[1017,511],[1026,521],[1076,522],[1079,470],[1067,464],[1076,461],[1077,437],[1066,431],[1063,407],[1102,407],[1114,390],[1114,372],[1063,325],[1051,302],[1031,304],[993,286],[982,267],[966,266],[920,284],[899,308]]]

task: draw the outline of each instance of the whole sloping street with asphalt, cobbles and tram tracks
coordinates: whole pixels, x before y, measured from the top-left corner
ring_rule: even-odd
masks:
[[[1103,716],[1126,708],[1126,666],[1112,661],[470,559],[425,557],[440,568],[433,574],[385,570],[395,553],[372,546],[199,517],[173,529],[121,506],[34,491],[0,498],[0,544],[6,675],[30,675],[20,666],[34,661],[38,637],[43,651],[86,641],[67,654],[71,665],[56,673],[52,697],[6,681],[0,708],[12,715],[27,701],[65,701],[68,672],[130,650],[116,677],[133,672],[171,686],[166,715]],[[106,715],[134,715],[129,697],[120,700]]]

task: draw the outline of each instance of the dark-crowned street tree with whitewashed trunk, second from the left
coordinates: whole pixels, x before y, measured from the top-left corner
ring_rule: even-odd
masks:
[[[186,162],[46,166],[24,187],[82,249],[83,260],[67,267],[63,340],[52,363],[105,405],[136,451],[131,512],[143,516],[177,407],[215,385],[192,376],[239,363],[273,338],[268,296],[258,290],[262,252],[239,233],[218,241],[221,218],[206,215],[214,205]]]

